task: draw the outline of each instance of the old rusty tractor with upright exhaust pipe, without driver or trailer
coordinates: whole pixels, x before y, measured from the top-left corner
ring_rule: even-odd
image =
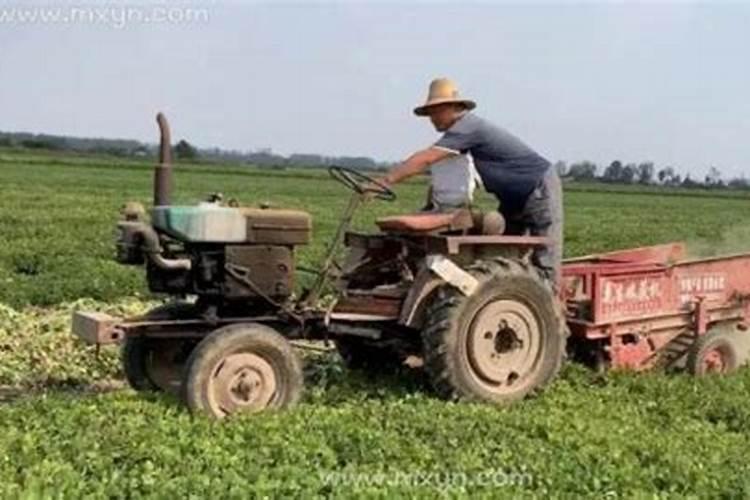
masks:
[[[363,203],[396,194],[331,167],[351,196],[311,284],[296,293],[310,215],[219,196],[172,205],[170,130],[161,113],[157,122],[153,207],[147,217],[125,206],[116,259],[145,266],[149,290],[170,301],[132,318],[76,312],[72,323],[89,343],[122,343],[133,389],[174,393],[217,418],[287,408],[304,385],[295,344],[321,340],[352,368],[420,366],[451,400],[509,404],[558,373],[562,308],[529,259],[544,238],[503,235],[500,214],[470,209],[385,217],[377,232],[354,232]]]

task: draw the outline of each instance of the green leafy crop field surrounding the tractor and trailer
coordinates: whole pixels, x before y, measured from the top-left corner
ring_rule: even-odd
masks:
[[[112,262],[147,163],[0,150],[0,498],[750,496],[750,370],[727,378],[601,376],[569,365],[510,408],[446,403],[418,371],[376,379],[306,356],[307,392],[285,413],[213,422],[123,387],[113,349],[68,333],[74,309],[143,311],[143,274]],[[179,166],[179,201],[211,192],[308,210],[320,258],[348,193],[324,172]],[[396,203],[421,206],[422,182]],[[483,197],[482,204],[491,200]],[[567,186],[566,254],[686,240],[750,250],[750,199],[732,193]]]

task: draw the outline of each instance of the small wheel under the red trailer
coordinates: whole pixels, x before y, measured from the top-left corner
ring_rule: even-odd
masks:
[[[737,340],[728,330],[711,330],[698,337],[688,353],[686,367],[696,377],[728,374],[739,367]]]

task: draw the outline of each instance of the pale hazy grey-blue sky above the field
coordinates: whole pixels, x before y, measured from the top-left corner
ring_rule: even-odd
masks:
[[[750,167],[750,3],[45,5],[0,0],[0,130],[395,161],[445,76],[552,161]]]

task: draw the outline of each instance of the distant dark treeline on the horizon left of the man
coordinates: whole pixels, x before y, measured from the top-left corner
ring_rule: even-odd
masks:
[[[0,132],[0,147],[15,147],[49,151],[105,154],[118,157],[156,158],[158,146],[134,140],[77,138],[25,132]],[[236,151],[219,148],[197,148],[182,139],[173,147],[178,160],[219,163],[245,163],[270,168],[322,167],[346,165],[362,170],[384,170],[389,164],[365,156],[323,156],[317,154],[292,154],[283,156],[270,149]]]

